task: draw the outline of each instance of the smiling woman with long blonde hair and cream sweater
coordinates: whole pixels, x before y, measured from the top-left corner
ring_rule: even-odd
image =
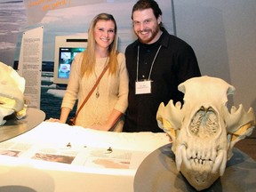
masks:
[[[116,32],[116,20],[111,14],[100,13],[92,20],[87,48],[76,55],[71,65],[60,120],[51,118],[50,121],[66,123],[76,99],[79,108],[108,65],[100,83],[79,112],[76,125],[102,131],[122,131],[121,117],[128,105],[128,74],[124,53],[116,51]]]

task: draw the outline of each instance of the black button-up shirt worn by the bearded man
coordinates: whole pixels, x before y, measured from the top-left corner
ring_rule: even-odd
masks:
[[[138,47],[139,81],[148,80],[156,56],[150,76],[151,93],[147,94],[135,94]],[[182,102],[183,93],[178,91],[178,85],[190,77],[201,76],[195,52],[186,42],[164,30],[154,44],[140,44],[137,40],[128,45],[125,58],[129,73],[129,95],[123,131],[163,132],[156,122],[156,112],[160,103],[164,102],[166,105],[169,100],[173,100],[173,103]]]

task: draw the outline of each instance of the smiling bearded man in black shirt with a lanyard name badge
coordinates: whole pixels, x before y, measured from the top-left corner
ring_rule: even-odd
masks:
[[[182,103],[178,85],[201,76],[192,47],[170,35],[154,0],[139,0],[132,8],[136,41],[125,50],[129,73],[128,108],[123,132],[163,132],[156,112],[161,102]]]

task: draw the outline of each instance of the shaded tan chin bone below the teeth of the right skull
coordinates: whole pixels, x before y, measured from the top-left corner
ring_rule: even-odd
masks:
[[[200,172],[195,170],[188,170],[181,165],[180,172],[188,180],[188,183],[196,188],[197,191],[210,188],[212,184],[220,178],[220,173]]]

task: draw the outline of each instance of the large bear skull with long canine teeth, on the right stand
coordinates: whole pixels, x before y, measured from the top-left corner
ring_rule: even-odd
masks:
[[[235,88],[220,78],[201,76],[179,85],[184,105],[161,103],[156,120],[172,138],[177,170],[188,182],[203,190],[223,175],[238,140],[252,133],[255,116],[242,105],[227,108],[228,94]]]

